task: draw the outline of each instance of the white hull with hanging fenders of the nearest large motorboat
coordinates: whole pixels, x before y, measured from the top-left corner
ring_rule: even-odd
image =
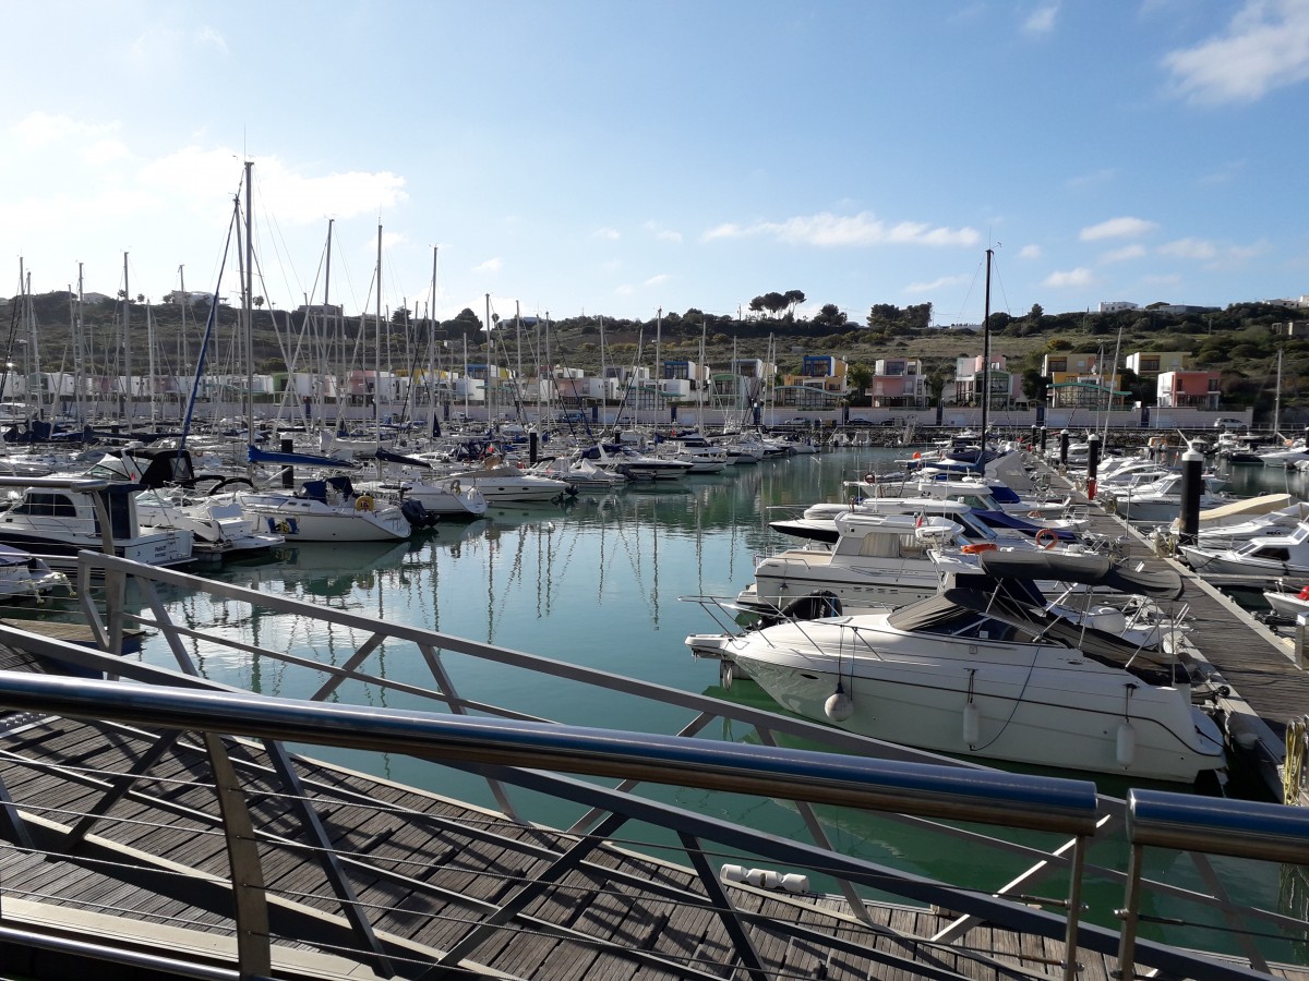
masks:
[[[805,633],[821,633],[822,623]],[[1221,732],[1183,688],[1143,684],[1071,649],[983,642],[963,645],[971,657],[950,657],[942,646],[891,653],[873,637],[855,644],[847,636],[838,655],[747,636],[720,657],[783,708],[886,742],[1185,783],[1225,764]],[[872,653],[853,657],[855,647]],[[827,712],[838,681],[850,696],[844,718]]]

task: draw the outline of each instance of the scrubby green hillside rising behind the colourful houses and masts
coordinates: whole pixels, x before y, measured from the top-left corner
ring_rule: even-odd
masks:
[[[31,337],[39,339],[41,368],[46,371],[72,370],[73,305],[68,293],[47,293],[31,298],[34,326],[24,315],[21,297],[0,301],[0,353],[12,370],[34,370]],[[545,324],[500,322],[492,334],[491,358],[501,365],[524,365],[526,374],[535,364],[565,365],[598,371],[602,362],[624,365],[654,361],[656,334],[660,357],[698,361],[702,337],[704,360],[725,366],[737,357],[772,360],[783,373],[798,371],[805,353],[835,354],[856,369],[872,370],[882,357],[920,358],[929,383],[953,375],[958,357],[982,353],[980,328],[923,327],[924,307],[899,310],[890,305],[872,307],[864,322],[842,322],[829,309],[813,319],[789,313],[759,311],[745,319],[715,317],[699,310],[666,314],[660,324],[602,317],[567,318]],[[929,314],[929,307],[927,309]],[[206,307],[161,303],[145,307],[132,303],[127,311],[131,327],[132,368],[147,371],[148,337],[154,339],[156,371],[191,374],[204,335]],[[1279,349],[1283,354],[1283,408],[1309,407],[1309,319],[1301,320],[1288,336],[1280,330],[1293,311],[1266,303],[1241,303],[1225,310],[1169,314],[1158,310],[1124,310],[1107,314],[1046,314],[1033,307],[1024,317],[1005,313],[991,315],[991,353],[1003,357],[1011,369],[1029,378],[1029,391],[1039,383],[1041,358],[1052,352],[1102,352],[1106,364],[1115,349],[1119,358],[1134,352],[1186,351],[1196,368],[1223,373],[1225,408],[1271,408]],[[82,354],[89,371],[122,371],[127,357],[123,345],[122,301],[89,303],[81,311]],[[215,373],[245,371],[246,357],[237,337],[238,311],[217,309],[207,364]],[[275,327],[276,322],[276,327]],[[363,324],[363,326],[361,326]],[[360,336],[360,331],[364,331]],[[1305,334],[1301,334],[1304,331]],[[285,370],[326,360],[335,369],[372,366],[373,351],[381,351],[384,368],[404,370],[427,362],[428,343],[439,365],[459,369],[465,349],[471,364],[488,360],[486,332],[471,310],[431,326],[410,322],[408,313],[395,311],[382,337],[374,340],[372,318],[346,317],[327,339],[310,337],[298,313],[255,310],[253,348],[259,371]],[[374,347],[376,345],[376,347]],[[310,357],[310,351],[315,352]],[[1132,375],[1123,387],[1151,404],[1152,382]]]

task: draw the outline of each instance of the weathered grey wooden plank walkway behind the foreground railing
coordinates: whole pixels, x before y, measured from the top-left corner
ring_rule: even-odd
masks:
[[[14,651],[4,661],[39,670]],[[31,714],[3,722],[0,786],[17,810],[0,808],[0,923],[230,967],[229,854],[203,739]],[[717,884],[723,916],[690,867],[300,757],[288,780],[250,740],[228,752],[279,978],[1062,976],[1063,943],[1047,938],[980,926],[946,943],[935,939],[954,920],[944,912],[869,903],[856,917],[842,899],[732,883]],[[310,811],[334,862],[304,835]],[[0,940],[0,956],[9,971],[69,976],[39,950]],[[1113,957],[1077,960],[1081,978],[1111,977]],[[94,969],[102,981],[135,976]]]

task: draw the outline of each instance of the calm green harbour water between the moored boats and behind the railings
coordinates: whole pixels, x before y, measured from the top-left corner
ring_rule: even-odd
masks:
[[[228,566],[212,576],[319,607],[431,628],[771,709],[771,701],[751,683],[738,683],[724,692],[716,662],[690,655],[683,638],[715,625],[698,604],[679,602],[679,596],[736,595],[751,579],[754,557],[778,551],[787,542],[767,527],[770,518],[816,501],[840,500],[843,480],[872,468],[886,470],[903,455],[905,451],[848,450],[734,467],[729,473],[691,477],[669,488],[583,492],[567,508],[493,509],[486,519],[441,526],[397,547],[301,545],[287,549],[276,561]],[[1246,485],[1241,493],[1262,492],[1258,487],[1250,489],[1258,480],[1288,479],[1262,468],[1241,468],[1238,476]],[[312,619],[251,615],[243,604],[192,596],[170,596],[168,602],[174,617],[211,637],[295,651],[319,662],[342,663],[363,640],[332,634]],[[191,653],[208,678],[266,695],[304,697],[322,681],[321,676],[276,661],[251,659],[206,641],[195,642]],[[157,637],[147,642],[141,657],[173,666],[166,645]],[[687,722],[682,710],[622,696],[598,697],[592,689],[462,658],[449,658],[445,663],[463,697],[533,715],[661,734],[677,731]],[[431,684],[427,667],[411,647],[384,649],[369,670],[393,681]],[[432,708],[414,696],[377,685],[350,685],[340,697],[397,708]],[[753,738],[733,731],[730,725],[707,735]],[[351,753],[332,759],[373,772],[380,768],[381,776],[495,806],[484,783],[459,773],[404,757],[384,759],[381,764],[377,757]],[[1067,776],[1085,778],[1085,774]],[[1097,782],[1105,793],[1119,797],[1126,793],[1121,780],[1105,777]],[[653,795],[808,840],[798,815],[784,802],[682,789],[656,790]],[[563,827],[576,818],[576,811],[541,800],[534,802],[530,816]],[[1029,865],[1025,858],[942,840],[897,820],[834,808],[823,810],[822,819],[834,845],[843,852],[978,888],[996,888]],[[666,836],[648,828],[634,829],[630,837],[652,849],[668,842]],[[1189,859],[1169,854],[1155,859],[1153,872],[1174,884],[1203,888]],[[1126,848],[1113,842],[1097,845],[1090,861],[1124,869]],[[1221,861],[1216,866],[1224,884],[1245,903],[1287,913],[1299,906],[1276,869]],[[1059,896],[1063,887],[1050,884],[1042,892]],[[1111,910],[1122,903],[1119,884],[1093,886],[1088,901],[1093,922],[1117,925]],[[1190,908],[1170,908],[1170,904],[1152,912],[1187,918],[1195,914]],[[1195,946],[1215,946],[1212,937],[1190,940]],[[1230,948],[1228,943],[1216,946]],[[1285,946],[1270,955],[1295,957]]]

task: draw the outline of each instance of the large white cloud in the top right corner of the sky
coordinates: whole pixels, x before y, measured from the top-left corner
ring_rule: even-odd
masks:
[[[1175,92],[1198,103],[1254,102],[1309,78],[1309,0],[1246,0],[1227,31],[1164,56]]]

